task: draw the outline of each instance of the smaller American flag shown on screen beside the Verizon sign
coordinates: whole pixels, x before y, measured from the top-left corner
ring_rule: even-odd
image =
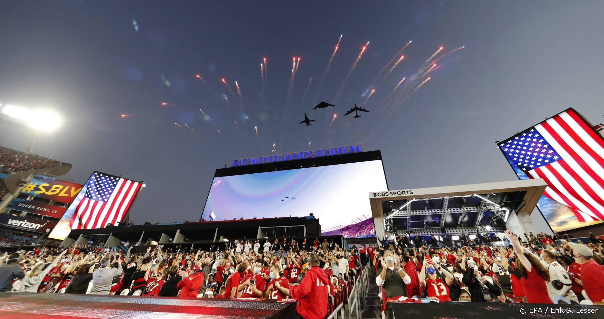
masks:
[[[85,187],[86,193],[69,223],[71,229],[103,228],[121,222],[141,183],[94,172]]]

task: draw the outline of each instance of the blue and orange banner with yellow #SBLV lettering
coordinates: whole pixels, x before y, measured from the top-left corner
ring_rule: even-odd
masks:
[[[35,175],[21,188],[21,193],[71,204],[80,190],[82,190],[82,186],[81,184],[62,181],[61,179]]]

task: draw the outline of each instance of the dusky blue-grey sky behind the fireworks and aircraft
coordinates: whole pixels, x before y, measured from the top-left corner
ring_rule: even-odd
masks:
[[[144,181],[137,224],[198,220],[214,170],[273,143],[381,150],[390,189],[510,181],[495,141],[569,107],[604,121],[602,12],[602,1],[4,1],[0,103],[62,115],[34,153],[71,163],[66,178]],[[463,46],[418,73],[439,47],[434,59]],[[355,103],[370,113],[344,117]],[[305,112],[312,126],[298,124]],[[30,138],[0,124],[1,146]]]

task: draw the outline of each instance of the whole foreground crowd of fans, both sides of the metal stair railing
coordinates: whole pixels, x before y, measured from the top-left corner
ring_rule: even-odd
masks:
[[[416,247],[413,236],[401,236],[381,247],[347,249],[333,239],[283,238],[236,240],[207,251],[159,245],[144,254],[131,253],[133,247],[36,247],[0,257],[0,291],[294,298],[302,317],[324,318],[345,306],[365,269],[381,288],[382,310],[413,297],[604,305],[602,241],[591,236],[586,245],[565,239],[544,244],[544,237],[552,239],[527,234],[521,240],[506,231],[509,245],[441,247],[428,238]]]

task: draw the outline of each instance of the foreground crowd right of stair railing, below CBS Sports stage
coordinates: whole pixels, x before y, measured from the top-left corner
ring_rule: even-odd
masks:
[[[430,239],[416,248],[414,236],[384,239],[370,253],[376,284],[390,301],[427,297],[434,301],[524,302],[604,305],[602,240],[590,233],[587,245],[545,234],[503,234],[510,245],[441,245]],[[570,238],[570,236],[564,236]],[[444,242],[451,243],[445,236]],[[501,241],[500,239],[497,239]]]

